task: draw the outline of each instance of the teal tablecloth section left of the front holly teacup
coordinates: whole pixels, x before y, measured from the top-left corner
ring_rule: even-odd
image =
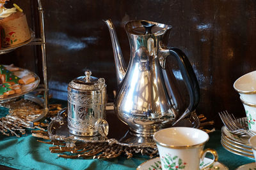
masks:
[[[50,153],[49,147],[36,138],[0,138],[0,164],[16,169],[134,169],[148,158],[140,155],[131,159],[63,159]]]

